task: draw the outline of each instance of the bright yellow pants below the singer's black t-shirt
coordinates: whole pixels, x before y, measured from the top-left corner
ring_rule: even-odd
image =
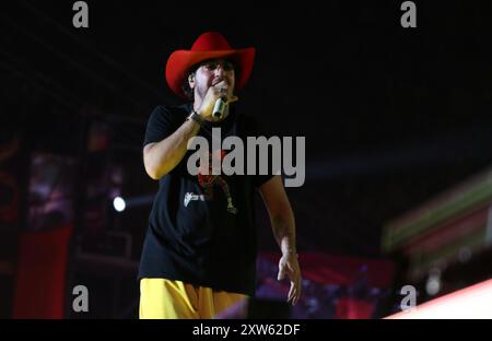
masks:
[[[214,318],[247,295],[165,279],[140,280],[140,318]]]

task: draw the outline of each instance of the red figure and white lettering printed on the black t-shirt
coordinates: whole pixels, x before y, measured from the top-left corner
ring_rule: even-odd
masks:
[[[214,196],[214,187],[220,187],[222,191],[224,192],[225,198],[227,199],[227,211],[230,213],[236,214],[237,208],[234,207],[231,191],[229,190],[227,181],[224,180],[224,178],[220,175],[213,175],[212,174],[212,158],[218,157],[220,160],[220,164],[222,164],[222,160],[225,157],[226,153],[224,150],[218,150],[214,152],[214,154],[209,152],[209,169],[208,174],[204,169],[201,168],[198,173],[198,184],[203,188],[204,195],[203,196],[197,196],[194,193],[187,193],[189,200],[213,200]],[[190,195],[190,196],[189,196]],[[200,198],[203,197],[203,198]],[[188,202],[189,202],[188,200]],[[185,197],[186,202],[186,197]],[[186,205],[186,204],[185,204]]]

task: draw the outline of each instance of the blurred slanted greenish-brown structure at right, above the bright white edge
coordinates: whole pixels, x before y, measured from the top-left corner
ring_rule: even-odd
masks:
[[[459,269],[491,249],[492,168],[390,222],[383,232],[383,250],[408,260],[403,278],[410,283]],[[483,271],[490,274],[490,267]]]

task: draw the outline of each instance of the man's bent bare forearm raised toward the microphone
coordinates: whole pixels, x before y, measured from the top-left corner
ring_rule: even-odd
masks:
[[[200,129],[194,120],[186,120],[175,132],[160,142],[145,144],[143,164],[145,172],[154,180],[169,173],[186,154],[188,140]]]

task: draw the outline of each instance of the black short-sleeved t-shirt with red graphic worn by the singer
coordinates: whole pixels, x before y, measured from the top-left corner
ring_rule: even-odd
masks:
[[[190,109],[190,104],[157,106],[149,119],[144,145],[171,136]],[[211,157],[223,157],[229,152],[212,151],[213,127],[221,128],[222,140],[230,136],[242,138],[245,155],[246,137],[263,134],[250,117],[234,110],[220,122],[206,121],[198,136],[208,140],[211,155],[215,155]],[[139,278],[165,278],[254,295],[257,255],[254,195],[255,188],[272,175],[192,176],[187,169],[192,153],[187,151],[179,164],[159,181]],[[244,165],[246,174],[247,157]]]

